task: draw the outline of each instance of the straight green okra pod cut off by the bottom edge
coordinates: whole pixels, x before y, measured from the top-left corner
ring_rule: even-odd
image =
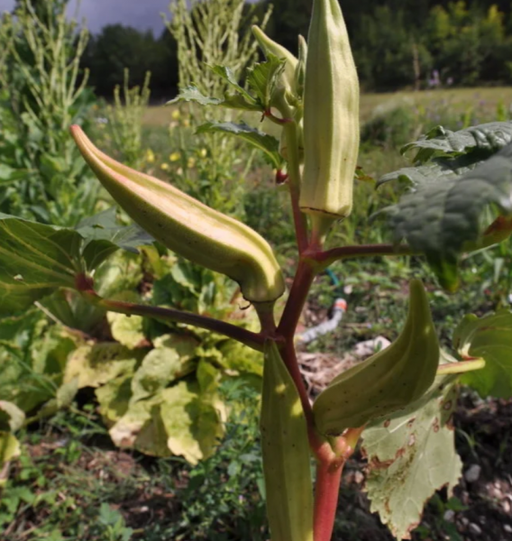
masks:
[[[306,419],[275,342],[265,344],[261,449],[272,541],[313,541],[313,483]]]

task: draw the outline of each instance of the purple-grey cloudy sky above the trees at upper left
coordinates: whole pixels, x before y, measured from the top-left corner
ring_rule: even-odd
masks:
[[[70,0],[69,14],[75,14],[77,0]],[[0,0],[0,12],[11,11],[14,0]],[[160,13],[169,15],[169,0],[81,0],[78,19],[85,17],[91,32],[105,24],[122,23],[160,35],[164,25]]]

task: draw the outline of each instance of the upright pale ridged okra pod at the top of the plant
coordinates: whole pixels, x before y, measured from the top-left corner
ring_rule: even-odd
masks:
[[[304,174],[299,205],[337,220],[352,210],[359,80],[338,0],[315,0],[307,39]]]

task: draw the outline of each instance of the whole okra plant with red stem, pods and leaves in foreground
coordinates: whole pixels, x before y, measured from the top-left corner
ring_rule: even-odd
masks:
[[[358,444],[369,459],[371,509],[395,536],[407,538],[425,501],[445,485],[451,490],[460,477],[462,465],[453,449],[458,381],[462,378],[483,396],[512,394],[512,362],[505,351],[510,311],[480,319],[467,316],[454,335],[456,359],[440,348],[421,280],[411,280],[407,320],[395,343],[337,376],[314,403],[297,363],[297,323],[315,276],[347,258],[424,255],[441,285],[456,289],[460,255],[510,234],[512,124],[486,124],[460,133],[436,128],[408,145],[407,150],[417,151],[414,166],[379,181],[399,179],[411,187],[397,205],[380,213],[389,215],[394,242],[328,248],[329,232],[339,220],[350,219],[359,148],[359,84],[340,5],[338,0],[314,1],[309,35],[307,41],[299,37],[297,58],[259,28],[253,33],[266,60],[248,70],[246,86],[230,69],[210,66],[231,91],[223,97],[204,96],[189,86],[174,101],[258,112],[279,127],[280,140],[243,123],[199,128],[242,137],[261,149],[278,170],[279,183],[288,188],[298,262],[279,318],[275,304],[285,294],[285,280],[260,234],[109,158],[78,126],[71,133],[79,150],[119,206],[169,250],[238,282],[258,313],[261,330],[102,298],[95,290],[94,269],[113,243],[123,246],[123,241],[101,235],[78,246],[63,230],[55,233],[54,242],[61,235],[62,252],[51,256],[55,269],[72,275],[57,285],[77,289],[114,312],[187,323],[263,353],[261,448],[272,541],[331,539],[343,465]],[[12,217],[0,218],[3,231],[12,233],[14,225],[5,225]],[[18,242],[23,227],[29,226],[16,224]],[[137,242],[133,237],[124,241],[130,247]],[[0,248],[5,252],[8,245],[0,243]],[[27,245],[30,249],[30,243],[11,242],[14,252]],[[42,268],[49,257],[37,252],[33,265]],[[69,265],[78,259],[86,262]],[[56,286],[56,272],[47,272],[47,282],[41,285],[40,280],[39,289],[31,289],[29,271],[14,275],[15,269],[14,261],[0,271],[12,306]],[[491,351],[489,344],[498,350]]]

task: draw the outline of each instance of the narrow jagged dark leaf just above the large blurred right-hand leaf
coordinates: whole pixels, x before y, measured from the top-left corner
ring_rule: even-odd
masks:
[[[456,157],[472,152],[480,153],[480,160],[512,142],[512,122],[491,122],[452,132],[436,126],[419,141],[409,142],[401,152],[416,150],[415,162],[425,163],[434,156]]]

